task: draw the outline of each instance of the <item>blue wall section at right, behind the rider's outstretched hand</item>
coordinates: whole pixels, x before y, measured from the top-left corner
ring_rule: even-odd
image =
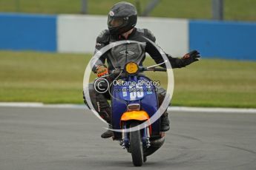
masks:
[[[189,49],[204,58],[256,60],[256,23],[190,21]]]

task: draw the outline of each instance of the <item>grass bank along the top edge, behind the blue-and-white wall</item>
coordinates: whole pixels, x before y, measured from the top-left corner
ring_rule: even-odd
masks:
[[[136,4],[135,0],[128,0]],[[145,9],[150,0],[140,0],[138,10]],[[88,0],[88,13],[107,15],[118,0]],[[226,20],[256,21],[255,0],[225,0]],[[1,12],[22,13],[80,13],[81,0],[0,0]],[[151,16],[171,18],[211,18],[211,0],[161,0]]]

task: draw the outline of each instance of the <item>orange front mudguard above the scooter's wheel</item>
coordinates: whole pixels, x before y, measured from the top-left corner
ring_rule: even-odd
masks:
[[[131,112],[124,112],[122,114],[121,120],[148,120],[149,116],[148,113],[141,110],[141,111],[131,111]]]

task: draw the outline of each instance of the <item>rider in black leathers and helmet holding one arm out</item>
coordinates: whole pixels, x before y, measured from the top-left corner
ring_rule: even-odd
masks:
[[[148,39],[153,42],[156,41],[153,33],[147,29],[136,28],[136,24],[137,10],[133,4],[125,1],[114,4],[114,6],[111,8],[111,11],[108,13],[108,30],[103,30],[102,33],[100,33],[96,38],[95,52],[101,50],[102,47],[105,47],[106,45],[115,41],[132,40],[140,41],[144,44],[129,44],[129,46],[122,44],[112,48],[111,50],[108,50],[108,52],[105,52],[93,66],[93,72],[95,72],[99,77],[108,74],[108,70],[114,69],[116,67],[123,67],[125,65],[125,61],[127,61],[127,56],[131,61],[136,61],[140,66],[142,66],[142,62],[145,60],[145,52],[148,52],[148,54],[157,64],[163,62],[163,58],[162,55],[160,55],[160,52],[156,47],[154,47],[153,44],[151,44],[150,41],[148,41]],[[191,64],[194,61],[198,61],[200,58],[199,54],[199,52],[193,50],[184,55],[183,58],[172,58],[171,55],[166,55],[171,63],[172,68],[181,68],[186,67],[188,64]],[[126,56],[126,60],[124,59],[124,56]],[[108,63],[108,67],[105,66],[105,60]],[[165,64],[162,64],[161,67],[165,67]],[[110,99],[110,95],[108,92],[96,92],[93,84],[89,84],[88,88],[94,109],[96,109],[96,111],[103,119],[111,124],[111,107],[107,101]],[[165,89],[161,87],[157,88],[157,97],[160,106],[161,103],[163,103],[163,99],[165,98]],[[85,104],[87,104],[86,101]],[[170,126],[167,109],[161,116],[160,120],[161,131],[168,131]],[[101,137],[108,138],[112,135],[113,132],[108,130],[107,132],[104,132]]]

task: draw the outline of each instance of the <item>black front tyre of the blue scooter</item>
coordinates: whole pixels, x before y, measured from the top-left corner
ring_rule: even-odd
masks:
[[[132,122],[130,127],[138,126],[140,123]],[[142,166],[143,163],[143,148],[142,148],[142,141],[140,136],[140,130],[130,132],[130,151],[132,162],[134,166]]]

